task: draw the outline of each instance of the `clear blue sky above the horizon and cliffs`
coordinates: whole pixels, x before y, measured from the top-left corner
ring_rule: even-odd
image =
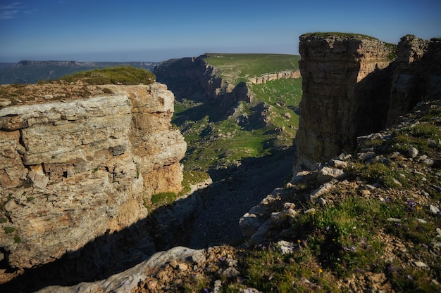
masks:
[[[0,0],[0,62],[298,54],[306,32],[441,37],[441,1]]]

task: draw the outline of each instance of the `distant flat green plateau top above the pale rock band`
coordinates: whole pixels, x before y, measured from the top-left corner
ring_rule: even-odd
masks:
[[[207,53],[206,62],[219,70],[218,75],[230,84],[248,82],[262,74],[297,70],[300,56],[284,54]]]

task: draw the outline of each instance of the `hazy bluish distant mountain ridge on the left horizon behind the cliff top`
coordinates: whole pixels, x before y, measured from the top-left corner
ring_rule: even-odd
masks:
[[[18,63],[0,63],[0,84],[35,84],[41,80],[63,77],[66,74],[95,68],[129,65],[153,72],[159,62],[77,62],[73,60],[21,60]]]

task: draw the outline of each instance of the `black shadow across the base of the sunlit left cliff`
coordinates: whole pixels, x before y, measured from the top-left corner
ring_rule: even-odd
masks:
[[[37,268],[14,271],[6,258],[5,275],[18,276],[0,285],[0,292],[35,292],[51,285],[71,286],[104,280],[149,259],[155,252],[190,243],[192,221],[201,209],[206,190],[197,190],[173,204],[159,207],[132,226],[105,233],[82,249]]]

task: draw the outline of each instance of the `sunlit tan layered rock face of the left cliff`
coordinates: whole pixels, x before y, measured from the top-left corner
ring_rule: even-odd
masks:
[[[104,86],[101,86],[104,87]],[[2,258],[49,263],[147,216],[144,202],[182,186],[186,143],[170,129],[163,84],[0,110]]]

